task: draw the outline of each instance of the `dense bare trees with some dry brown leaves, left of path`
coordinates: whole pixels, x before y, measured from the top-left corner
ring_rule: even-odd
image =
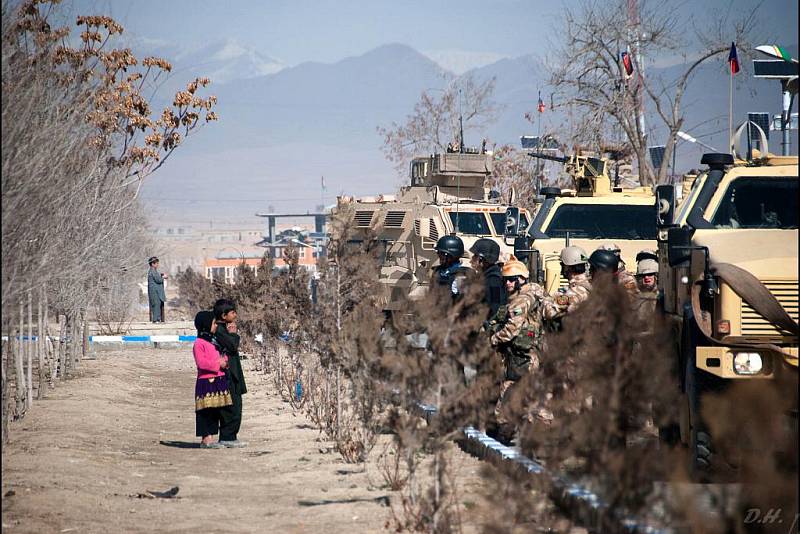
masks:
[[[2,10],[2,305],[27,306],[31,344],[33,306],[63,317],[62,378],[78,369],[85,351],[87,312],[130,312],[148,244],[137,195],[177,146],[216,119],[213,96],[200,78],[152,110],[144,96],[171,66],[141,63],[113,47],[122,27],[102,16],[77,17],[79,43],[63,25],[58,2],[4,2]],[[33,298],[37,302],[33,302]],[[20,317],[19,334],[25,317]],[[47,330],[46,321],[37,328]],[[68,334],[68,335],[67,335]],[[65,342],[65,338],[70,341]],[[20,339],[17,345],[22,345]],[[33,347],[27,386],[33,398]],[[19,351],[18,351],[19,352]],[[55,355],[54,355],[55,356]],[[39,390],[47,379],[39,360]],[[50,378],[54,377],[50,374]]]

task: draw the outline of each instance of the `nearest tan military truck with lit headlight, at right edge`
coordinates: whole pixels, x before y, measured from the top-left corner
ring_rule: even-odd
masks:
[[[703,399],[741,380],[783,375],[796,384],[798,354],[797,157],[701,162],[708,170],[679,206],[672,186],[656,188],[658,285],[682,395],[679,421],[660,434],[689,447],[698,478],[721,450],[701,417]]]

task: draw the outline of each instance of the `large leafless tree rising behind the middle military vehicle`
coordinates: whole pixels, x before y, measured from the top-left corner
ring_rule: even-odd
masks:
[[[728,52],[731,41],[742,51],[751,48],[747,39],[756,9],[732,23],[724,18],[699,24],[696,10],[683,9],[684,15],[678,6],[665,2],[586,0],[577,11],[565,12],[564,38],[550,79],[561,96],[558,107],[580,115],[572,127],[597,151],[612,141],[608,130],[619,128],[638,162],[640,183],[663,182],[683,126],[681,102],[692,75],[700,65]],[[632,72],[626,69],[623,54]],[[671,80],[645,77],[642,57],[675,57],[684,66]],[[657,118],[667,131],[658,169],[647,163],[645,115]]]

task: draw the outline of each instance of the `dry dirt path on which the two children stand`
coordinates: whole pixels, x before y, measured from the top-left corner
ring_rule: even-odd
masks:
[[[374,464],[348,465],[246,370],[244,449],[198,448],[191,349],[82,362],[13,423],[3,448],[7,532],[375,532],[390,499]],[[456,452],[464,492],[478,461]],[[373,457],[376,454],[373,454]],[[148,490],[177,486],[176,498]],[[471,529],[468,529],[471,530]]]

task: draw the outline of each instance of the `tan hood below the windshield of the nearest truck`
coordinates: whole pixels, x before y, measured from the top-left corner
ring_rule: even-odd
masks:
[[[797,280],[797,230],[698,230],[711,264],[730,263],[760,280]]]

